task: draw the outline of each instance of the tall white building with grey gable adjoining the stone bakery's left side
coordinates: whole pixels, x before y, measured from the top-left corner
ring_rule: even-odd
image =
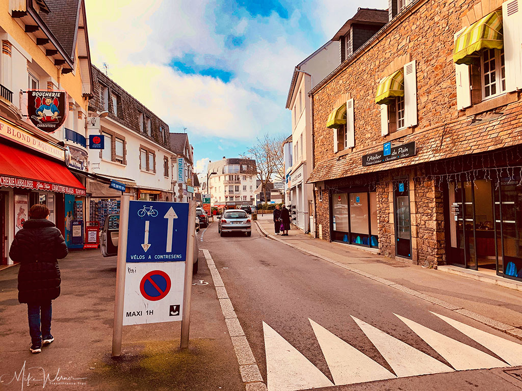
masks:
[[[329,41],[303,62],[293,72],[286,108],[292,111],[292,160],[289,182],[290,200],[295,206],[295,221],[300,229],[307,232],[313,224],[313,185],[306,179],[313,169],[312,152],[312,101],[308,92],[339,65],[339,42]],[[288,145],[287,142],[285,145]],[[286,162],[287,163],[287,162]],[[287,168],[287,166],[285,166]]]

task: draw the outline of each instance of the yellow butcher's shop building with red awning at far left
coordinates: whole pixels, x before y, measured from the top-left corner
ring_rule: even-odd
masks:
[[[67,166],[87,163],[84,1],[4,1],[0,39],[0,263],[10,264],[9,245],[33,204],[49,207],[68,246],[83,239],[85,181]]]

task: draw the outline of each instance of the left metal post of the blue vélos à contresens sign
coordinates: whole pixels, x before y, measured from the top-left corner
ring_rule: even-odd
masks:
[[[114,300],[114,326],[112,329],[112,357],[122,354],[123,299],[125,290],[125,260],[127,258],[127,232],[129,222],[129,201],[131,194],[122,194],[120,206],[120,231],[118,241],[118,258],[116,265],[116,297]]]

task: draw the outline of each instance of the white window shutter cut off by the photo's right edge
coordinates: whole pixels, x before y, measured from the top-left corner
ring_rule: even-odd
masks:
[[[502,4],[506,91],[522,89],[522,0]]]

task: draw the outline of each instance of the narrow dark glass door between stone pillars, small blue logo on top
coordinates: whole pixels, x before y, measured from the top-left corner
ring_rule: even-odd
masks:
[[[395,185],[395,251],[398,256],[411,258],[411,218],[408,180]]]

